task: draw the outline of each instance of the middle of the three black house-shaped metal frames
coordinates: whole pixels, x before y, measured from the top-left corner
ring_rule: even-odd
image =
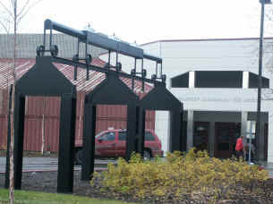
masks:
[[[83,162],[81,179],[90,180],[94,172],[96,106],[127,106],[127,136],[125,158],[128,160],[132,151],[136,151],[137,102],[138,96],[119,79],[118,72],[107,72],[106,79],[85,98],[83,122]]]

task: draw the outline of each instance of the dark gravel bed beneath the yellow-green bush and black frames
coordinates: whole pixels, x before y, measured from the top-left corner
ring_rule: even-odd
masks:
[[[45,191],[45,192],[56,192],[57,186],[57,173],[56,172],[36,172],[36,173],[23,173],[22,174],[22,190],[31,190],[31,191]],[[4,187],[4,174],[0,174],[0,188]],[[260,191],[259,194],[250,195],[242,191],[237,191],[234,193],[230,200],[221,200],[218,203],[225,204],[264,204],[264,203],[273,203],[273,180],[269,179],[263,188],[263,191]],[[130,195],[123,195],[114,192],[102,192],[100,191],[99,183],[96,183],[95,187],[91,187],[89,182],[81,181],[81,172],[74,172],[74,186],[73,194],[81,196],[89,196],[92,198],[101,198],[101,199],[116,199],[116,200],[125,200],[133,201],[140,203],[208,203],[208,201],[202,201],[198,198],[198,195],[189,195],[182,198],[182,200],[172,200],[168,198],[166,200],[155,200],[149,198],[147,200],[136,200]]]

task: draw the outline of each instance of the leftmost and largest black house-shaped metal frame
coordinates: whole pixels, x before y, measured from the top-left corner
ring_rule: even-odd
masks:
[[[36,64],[16,82],[13,117],[14,188],[21,189],[26,96],[61,97],[57,191],[73,192],[76,88],[55,68],[51,56],[37,57]],[[7,171],[6,176],[8,174]]]

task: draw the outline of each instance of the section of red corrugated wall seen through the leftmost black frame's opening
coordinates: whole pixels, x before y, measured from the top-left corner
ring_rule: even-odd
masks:
[[[43,115],[45,150],[58,150],[60,106],[58,97],[26,98],[24,150],[41,150]]]

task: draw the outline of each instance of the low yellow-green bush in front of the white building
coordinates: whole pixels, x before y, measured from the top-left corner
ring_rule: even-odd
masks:
[[[107,171],[94,174],[93,181],[100,177],[104,190],[130,193],[137,197],[181,198],[199,193],[201,196],[218,200],[227,198],[237,185],[254,191],[257,183],[268,179],[266,170],[249,166],[235,158],[220,160],[209,157],[206,151],[187,154],[168,153],[165,161],[159,158],[143,161],[133,154],[129,163],[123,158],[117,166],[108,164]],[[91,183],[93,183],[91,181]]]

